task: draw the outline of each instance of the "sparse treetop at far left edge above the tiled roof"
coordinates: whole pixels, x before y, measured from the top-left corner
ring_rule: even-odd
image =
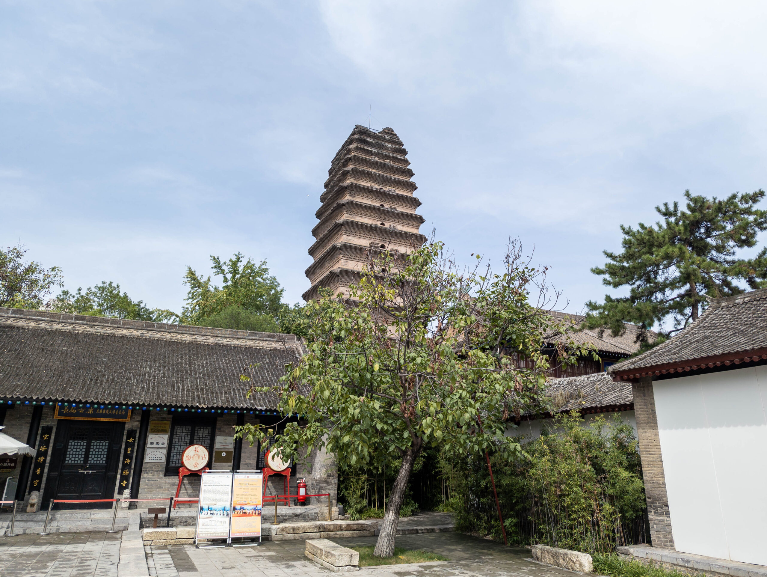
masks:
[[[54,286],[64,283],[58,266],[46,269],[39,262],[25,262],[23,246],[0,249],[0,307],[43,308]]]

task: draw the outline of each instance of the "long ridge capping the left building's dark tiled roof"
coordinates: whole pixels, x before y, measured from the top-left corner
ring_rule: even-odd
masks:
[[[27,308],[0,307],[2,318],[26,318],[29,320],[50,321],[62,325],[92,328],[134,328],[144,331],[157,331],[170,335],[199,335],[219,338],[242,338],[249,341],[282,341],[298,342],[296,335],[285,333],[241,331],[236,328],[199,327],[196,325],[173,325],[166,322],[133,321],[127,318],[97,317],[91,315],[74,315],[64,312],[40,311]]]

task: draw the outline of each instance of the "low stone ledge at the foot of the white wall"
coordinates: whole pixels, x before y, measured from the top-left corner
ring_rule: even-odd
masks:
[[[717,559],[683,553],[673,549],[661,549],[647,545],[618,547],[618,556],[633,559],[645,565],[655,565],[670,571],[687,575],[709,575],[709,577],[767,577],[767,566],[752,565],[729,559]]]

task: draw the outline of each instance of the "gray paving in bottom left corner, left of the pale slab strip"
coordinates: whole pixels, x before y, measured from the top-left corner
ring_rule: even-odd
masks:
[[[3,577],[115,577],[120,533],[26,533],[0,537]]]

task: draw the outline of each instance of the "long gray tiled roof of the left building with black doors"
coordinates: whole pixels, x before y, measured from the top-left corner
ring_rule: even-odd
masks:
[[[179,327],[0,308],[0,397],[272,409],[240,374],[272,386],[301,354],[295,335]]]

